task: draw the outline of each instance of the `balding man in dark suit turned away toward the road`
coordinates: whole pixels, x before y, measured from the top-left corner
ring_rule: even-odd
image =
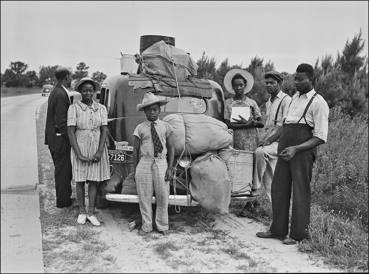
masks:
[[[69,207],[73,204],[72,195],[72,164],[68,137],[68,108],[73,103],[68,88],[72,84],[72,72],[66,67],[55,70],[58,81],[48,99],[45,127],[45,145],[48,145],[55,166],[56,207]]]

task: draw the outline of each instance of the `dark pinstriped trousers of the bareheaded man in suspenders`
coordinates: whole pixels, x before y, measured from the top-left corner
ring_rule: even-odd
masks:
[[[288,234],[289,209],[292,193],[290,238],[302,240],[308,236],[310,222],[310,182],[317,148],[296,152],[289,161],[279,154],[286,147],[305,143],[313,137],[308,124],[285,124],[278,144],[278,159],[272,180],[273,222],[270,232],[277,236]]]

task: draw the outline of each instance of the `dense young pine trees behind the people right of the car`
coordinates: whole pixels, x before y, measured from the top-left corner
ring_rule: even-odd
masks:
[[[358,113],[368,114],[368,57],[360,55],[365,45],[361,35],[360,29],[351,41],[348,39],[342,52],[337,51],[336,59],[332,53],[326,53],[321,60],[317,58],[314,66],[315,91],[324,97],[330,108],[341,108],[351,116]],[[254,87],[247,96],[254,99],[261,107],[268,101],[269,94],[265,90],[264,74],[275,70],[274,63],[270,59],[264,62],[263,58],[255,56],[248,67],[242,68],[242,64],[230,66],[226,58],[216,68],[215,57],[209,58],[203,52],[197,65],[199,66],[197,76],[217,82],[224,91],[225,99],[233,96],[225,89],[223,83],[225,74],[231,69],[248,71],[254,77]],[[284,76],[283,92],[293,95],[296,91],[293,74],[280,72]]]

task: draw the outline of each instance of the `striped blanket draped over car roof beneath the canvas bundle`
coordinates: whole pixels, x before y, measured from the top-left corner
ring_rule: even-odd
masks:
[[[189,77],[179,80],[179,93],[183,95],[200,96],[204,98],[213,97],[213,88],[208,80],[203,78]],[[161,77],[158,75],[130,74],[128,85],[133,90],[138,88],[154,88],[156,92],[165,92],[172,96],[178,96],[177,83],[175,78]]]

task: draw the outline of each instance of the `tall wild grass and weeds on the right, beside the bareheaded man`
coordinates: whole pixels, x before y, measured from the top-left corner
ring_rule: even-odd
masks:
[[[319,252],[348,272],[368,272],[368,116],[351,119],[332,108],[329,122],[314,163],[309,237],[300,250]]]

